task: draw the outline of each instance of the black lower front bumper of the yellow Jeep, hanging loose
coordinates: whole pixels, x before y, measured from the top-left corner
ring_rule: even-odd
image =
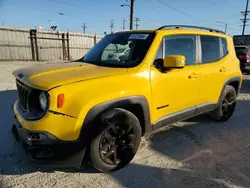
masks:
[[[15,118],[16,119],[16,118]],[[80,141],[61,141],[47,132],[29,131],[18,121],[12,132],[30,161],[43,167],[80,167],[85,154],[85,146]]]

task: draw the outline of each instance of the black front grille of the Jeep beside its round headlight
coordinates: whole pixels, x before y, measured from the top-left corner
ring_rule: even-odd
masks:
[[[28,86],[21,83],[20,81],[17,81],[16,85],[17,85],[19,104],[24,111],[27,111],[29,102],[28,99],[31,89]]]

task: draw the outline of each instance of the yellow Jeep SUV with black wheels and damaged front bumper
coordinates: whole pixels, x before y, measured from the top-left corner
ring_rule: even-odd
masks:
[[[104,172],[127,165],[157,128],[202,113],[227,121],[242,83],[232,38],[185,25],[114,32],[76,62],[13,75],[12,131],[37,164],[89,160]]]

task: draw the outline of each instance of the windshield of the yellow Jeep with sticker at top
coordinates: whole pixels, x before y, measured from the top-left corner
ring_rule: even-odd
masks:
[[[145,57],[153,38],[153,33],[106,35],[87,52],[83,61],[98,66],[134,67]]]

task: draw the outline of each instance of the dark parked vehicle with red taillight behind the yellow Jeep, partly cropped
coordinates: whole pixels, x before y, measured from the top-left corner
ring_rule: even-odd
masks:
[[[240,60],[240,69],[242,73],[250,73],[250,46],[235,46],[236,56]]]

